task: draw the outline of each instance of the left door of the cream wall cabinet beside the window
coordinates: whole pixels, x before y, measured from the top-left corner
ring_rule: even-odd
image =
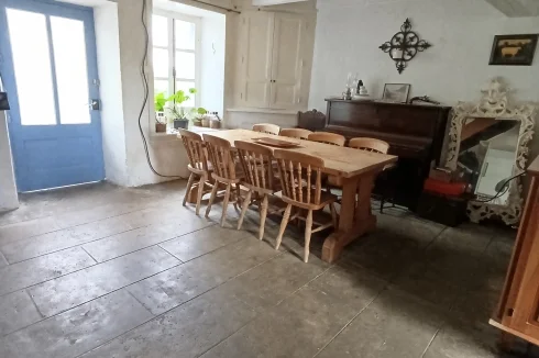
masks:
[[[258,11],[245,15],[242,63],[242,100],[249,107],[270,105],[272,83],[273,13]]]

